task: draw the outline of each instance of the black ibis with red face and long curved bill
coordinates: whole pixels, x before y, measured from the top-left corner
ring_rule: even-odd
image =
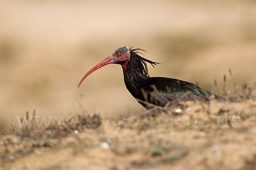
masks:
[[[109,57],[91,68],[81,79],[78,87],[97,69],[108,64],[119,64],[122,66],[126,88],[146,109],[153,106],[164,107],[170,102],[180,100],[208,99],[211,95],[210,92],[191,82],[167,77],[150,77],[147,63],[153,67],[160,63],[141,57],[143,52],[146,51],[132,46],[118,48]]]

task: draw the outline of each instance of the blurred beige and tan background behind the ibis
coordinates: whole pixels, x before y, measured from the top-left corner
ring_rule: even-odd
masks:
[[[122,46],[147,50],[150,76],[220,87],[228,69],[241,86],[256,80],[255,0],[1,0],[0,128],[15,116],[143,111],[120,65],[84,74]],[[82,106],[82,107],[81,107]]]

